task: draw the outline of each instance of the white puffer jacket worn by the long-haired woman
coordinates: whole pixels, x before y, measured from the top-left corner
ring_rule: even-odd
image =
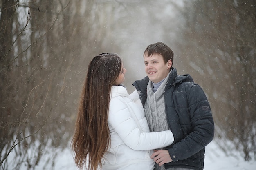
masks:
[[[173,133],[149,133],[144,109],[135,90],[113,86],[110,95],[108,126],[111,147],[104,155],[103,170],[153,170],[153,149],[173,143]]]

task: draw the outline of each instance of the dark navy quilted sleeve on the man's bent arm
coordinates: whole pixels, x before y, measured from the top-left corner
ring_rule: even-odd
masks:
[[[207,97],[199,85],[188,93],[191,132],[168,149],[173,161],[184,160],[202,150],[214,136],[214,123]]]

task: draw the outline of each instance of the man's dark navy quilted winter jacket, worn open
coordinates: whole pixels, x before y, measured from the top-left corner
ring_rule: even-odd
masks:
[[[147,98],[148,77],[132,85],[141,93],[144,106]],[[165,168],[183,167],[202,170],[205,146],[214,135],[211,108],[202,88],[193,82],[190,75],[177,75],[172,68],[165,87],[165,112],[174,142],[168,152],[173,160]]]

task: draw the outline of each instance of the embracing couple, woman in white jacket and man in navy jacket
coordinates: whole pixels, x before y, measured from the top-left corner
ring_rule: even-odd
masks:
[[[131,94],[119,55],[90,62],[72,139],[79,169],[203,169],[214,135],[204,91],[190,75],[177,75],[166,44],[150,44],[143,57],[147,76]]]

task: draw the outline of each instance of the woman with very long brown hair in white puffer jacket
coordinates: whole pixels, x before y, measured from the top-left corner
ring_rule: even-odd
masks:
[[[151,170],[152,150],[173,143],[173,133],[149,133],[137,91],[121,85],[126,69],[117,54],[92,59],[83,86],[72,148],[79,169]]]

